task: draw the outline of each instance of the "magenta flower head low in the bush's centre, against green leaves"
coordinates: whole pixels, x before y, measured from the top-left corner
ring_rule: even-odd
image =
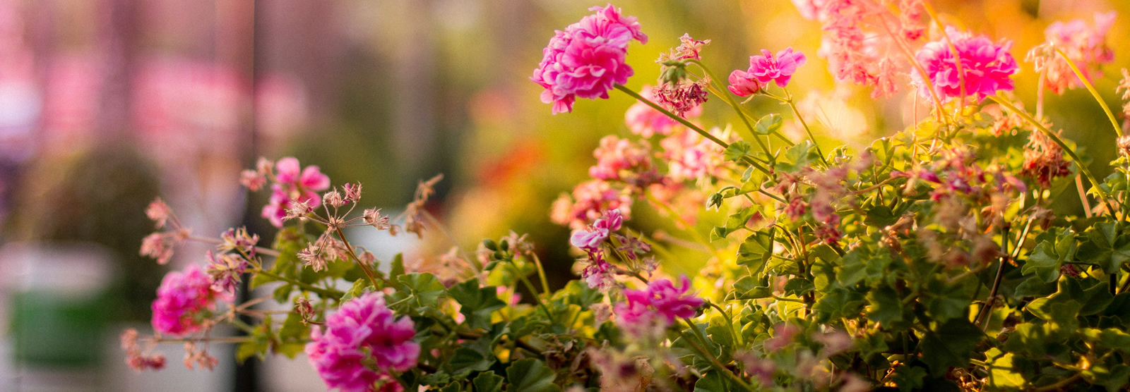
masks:
[[[659,279],[647,284],[646,289],[625,289],[626,302],[617,303],[615,312],[619,326],[625,331],[651,332],[655,328],[667,328],[676,318],[692,318],[703,305],[703,299],[687,294],[690,279],[680,276],[681,287],[670,279]]]

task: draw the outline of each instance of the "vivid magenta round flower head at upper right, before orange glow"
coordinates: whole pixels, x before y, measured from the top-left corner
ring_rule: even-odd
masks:
[[[1008,53],[1011,42],[993,44],[985,36],[971,36],[953,27],[946,27],[949,39],[957,48],[957,55],[965,72],[965,95],[975,97],[979,101],[1000,90],[1012,90],[1011,77],[1020,68],[1016,59]],[[915,57],[930,75],[935,91],[941,99],[962,96],[962,75],[957,72],[957,62],[945,39],[933,41],[922,46]],[[930,90],[922,82],[919,72],[912,72],[911,78],[919,86],[922,97],[930,97]]]

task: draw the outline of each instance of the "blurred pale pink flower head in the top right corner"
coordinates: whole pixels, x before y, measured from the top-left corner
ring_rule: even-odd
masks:
[[[1044,30],[1050,44],[1048,48],[1062,50],[1088,80],[1102,78],[1099,68],[1114,61],[1114,51],[1106,45],[1106,33],[1114,25],[1115,15],[1114,11],[1096,12],[1094,26],[1088,26],[1081,19],[1053,23]],[[1081,86],[1067,61],[1055,53],[1045,53],[1042,59],[1031,55],[1029,59],[1036,62],[1036,71],[1045,72],[1044,86],[1055,93]]]

